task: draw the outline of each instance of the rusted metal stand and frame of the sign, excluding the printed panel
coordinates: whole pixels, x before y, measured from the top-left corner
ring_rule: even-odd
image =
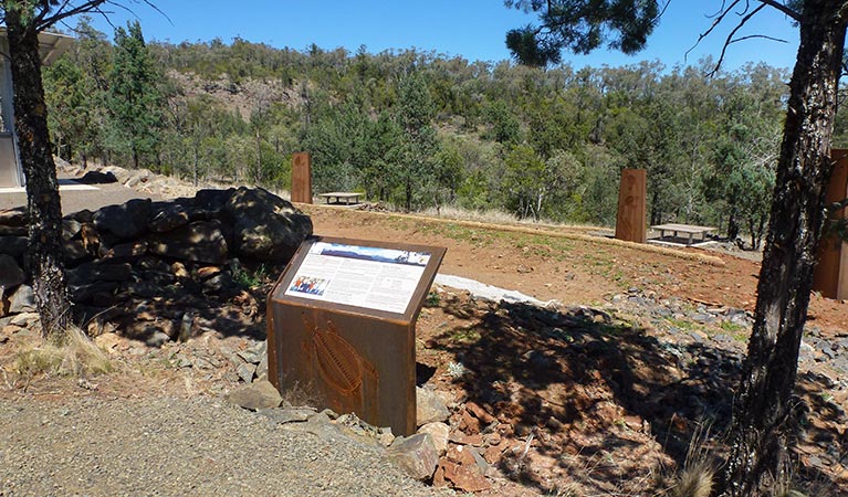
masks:
[[[409,251],[428,254],[428,262],[415,268],[420,277],[402,311],[316,300],[292,292],[313,292],[314,282],[305,287],[301,265],[315,243]],[[373,425],[391,426],[397,435],[415,433],[415,322],[444,252],[440,247],[348,239],[305,241],[269,296],[271,382],[284,396],[290,394],[338,413],[355,412]],[[307,264],[315,265],[314,258]],[[387,269],[390,272],[391,266]],[[365,289],[350,288],[357,290]]]

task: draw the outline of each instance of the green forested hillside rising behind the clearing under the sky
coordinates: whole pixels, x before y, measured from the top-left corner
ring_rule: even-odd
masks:
[[[595,224],[615,222],[620,169],[643,168],[650,222],[757,242],[766,225],[783,68],[544,71],[411,50],[146,44],[137,24],[76,31],[45,68],[65,159],[287,188],[291,154],[307,150],[316,192]]]

